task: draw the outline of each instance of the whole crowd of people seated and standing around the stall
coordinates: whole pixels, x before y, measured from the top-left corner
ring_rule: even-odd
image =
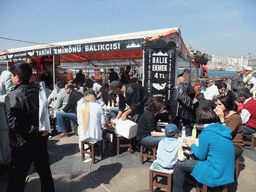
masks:
[[[48,96],[49,111],[53,112],[50,118],[56,117],[57,121],[55,137],[68,137],[69,132],[77,130],[79,141],[89,137],[102,139],[101,125],[112,118],[130,118],[138,124],[134,144],[158,147],[157,162],[163,168],[174,169],[173,191],[183,191],[188,174],[210,187],[232,183],[235,159],[244,150],[242,133],[255,134],[256,130],[256,100],[252,97],[256,80],[250,76],[252,69],[238,69],[230,89],[224,82],[207,86],[198,82],[192,86],[190,71],[185,69],[171,89],[168,101],[151,97],[134,81],[136,73],[131,76],[130,70],[130,66],[125,71],[122,68],[118,75],[111,69],[108,84],[86,79],[82,70],[72,82],[58,81]],[[0,99],[6,105],[12,155],[8,191],[13,191],[13,187],[16,191],[24,189],[32,161],[40,176],[42,191],[54,191],[47,152],[50,133],[38,129],[39,88],[29,84],[31,76],[31,66],[25,62],[12,65],[10,72],[5,70],[0,76]],[[46,82],[49,81],[46,70],[42,78],[46,86],[52,84]],[[113,105],[106,119],[104,110],[110,102]],[[168,113],[165,128],[157,125],[164,111]],[[186,135],[191,136],[195,123],[205,128],[199,142],[184,141],[195,156],[189,160],[182,152],[178,136],[182,127]],[[4,147],[8,145],[3,144],[1,150]]]

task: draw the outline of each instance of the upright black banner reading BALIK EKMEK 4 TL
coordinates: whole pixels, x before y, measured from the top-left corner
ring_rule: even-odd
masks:
[[[144,48],[144,87],[152,97],[170,99],[175,83],[176,44],[148,41]]]

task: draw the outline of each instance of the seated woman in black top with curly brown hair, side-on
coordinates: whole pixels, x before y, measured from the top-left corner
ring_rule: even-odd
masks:
[[[137,141],[148,147],[157,147],[165,137],[165,130],[157,127],[156,115],[163,112],[164,101],[162,98],[149,98],[146,110],[138,121]]]

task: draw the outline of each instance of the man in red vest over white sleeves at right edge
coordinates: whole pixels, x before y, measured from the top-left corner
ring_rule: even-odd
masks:
[[[243,133],[256,133],[256,100],[251,97],[250,90],[243,88],[238,92],[238,96],[244,101],[244,107],[241,111],[243,124]]]

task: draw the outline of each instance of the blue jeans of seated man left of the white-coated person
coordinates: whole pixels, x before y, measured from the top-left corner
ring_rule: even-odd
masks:
[[[67,127],[65,124],[66,119],[73,121],[74,124],[77,123],[77,116],[75,113],[66,113],[64,111],[57,112],[57,130],[59,133],[67,133]]]

